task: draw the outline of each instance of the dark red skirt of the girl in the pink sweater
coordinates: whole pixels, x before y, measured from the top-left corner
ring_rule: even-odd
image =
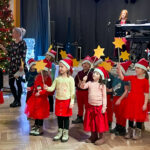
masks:
[[[87,132],[103,133],[109,130],[107,113],[102,114],[102,105],[93,106],[88,104],[84,117],[84,130]]]

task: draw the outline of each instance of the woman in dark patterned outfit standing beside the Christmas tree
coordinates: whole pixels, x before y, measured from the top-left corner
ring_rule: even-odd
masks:
[[[25,64],[27,46],[23,40],[25,32],[26,31],[23,28],[14,28],[12,33],[14,41],[11,43],[10,48],[6,49],[0,45],[4,52],[8,53],[10,57],[9,86],[14,97],[14,101],[10,104],[10,107],[21,106],[22,85],[19,75],[16,73],[18,71],[27,72],[27,67]],[[22,66],[21,62],[23,62],[24,66]],[[15,81],[17,89],[14,85]]]

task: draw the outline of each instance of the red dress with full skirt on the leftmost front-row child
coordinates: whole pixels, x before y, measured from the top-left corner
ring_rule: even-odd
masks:
[[[51,86],[52,81],[51,78],[48,77],[45,81],[45,84]],[[25,109],[25,114],[29,118],[33,119],[44,119],[49,117],[49,101],[48,95],[49,92],[43,89],[43,81],[41,74],[37,75],[34,86],[32,96],[28,99]],[[40,90],[40,96],[35,96],[35,93]]]

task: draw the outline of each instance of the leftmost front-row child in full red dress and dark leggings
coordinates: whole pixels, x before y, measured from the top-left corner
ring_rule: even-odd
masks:
[[[34,86],[28,88],[32,91],[32,96],[28,99],[25,113],[29,118],[35,119],[35,124],[31,128],[30,135],[43,134],[43,119],[49,117],[48,92],[44,90],[44,83],[51,85],[51,78],[48,75],[50,66],[47,64],[44,70],[37,75]],[[43,83],[44,81],[44,83]]]

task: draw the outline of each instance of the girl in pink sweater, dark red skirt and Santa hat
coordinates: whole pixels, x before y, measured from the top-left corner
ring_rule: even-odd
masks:
[[[108,131],[106,85],[103,83],[106,77],[108,77],[106,70],[103,67],[97,67],[93,72],[93,81],[85,83],[87,80],[85,76],[81,84],[81,88],[88,88],[88,107],[84,118],[84,130],[90,131],[91,137],[86,142],[96,145],[105,142],[103,132]]]

